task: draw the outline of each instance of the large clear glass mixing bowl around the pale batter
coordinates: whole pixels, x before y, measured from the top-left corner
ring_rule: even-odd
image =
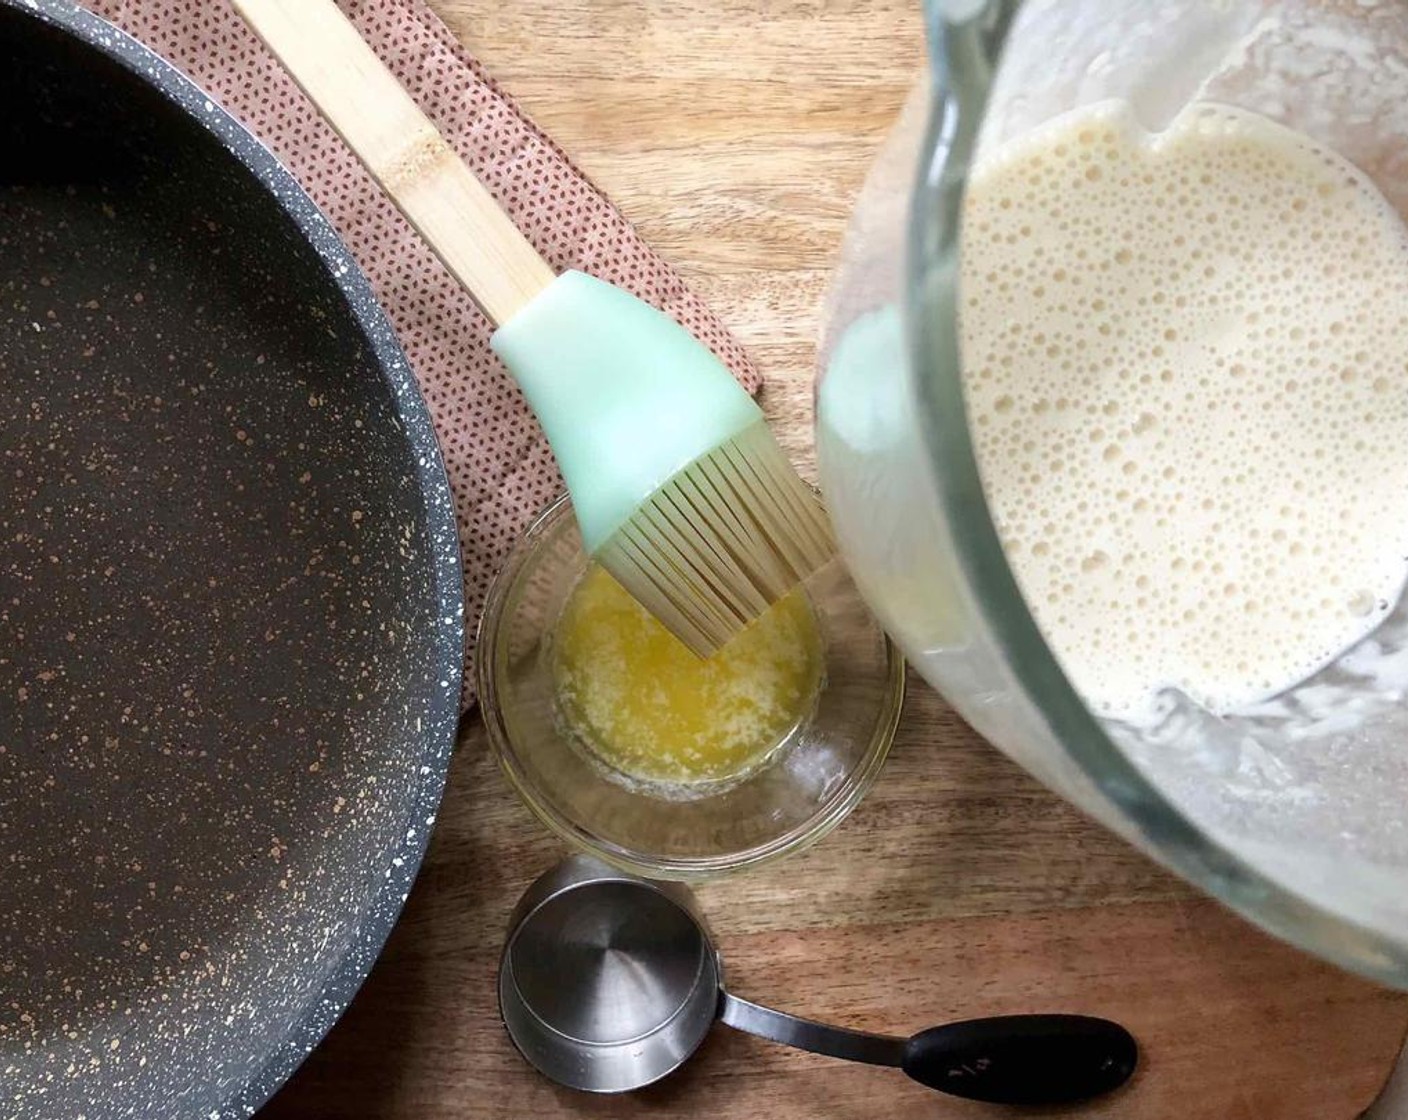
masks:
[[[1255,713],[1098,718],[998,544],[955,313],[974,152],[1094,100],[1150,128],[1190,101],[1260,113],[1408,216],[1408,4],[931,0],[928,17],[931,75],[862,194],[817,389],[856,585],[915,668],[1052,789],[1259,926],[1408,988],[1408,610]]]

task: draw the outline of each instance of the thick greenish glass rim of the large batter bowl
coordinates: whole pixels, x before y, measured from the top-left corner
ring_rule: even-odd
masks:
[[[987,83],[1001,61],[1010,31],[1007,21],[1022,3],[924,0],[931,90],[905,218],[908,249],[903,303],[911,371],[934,365],[924,361],[928,338],[924,317],[915,314],[924,304],[925,278],[929,270],[952,268],[956,259],[959,223],[955,216],[969,170],[962,138],[967,128],[976,131],[976,123],[963,117],[972,111],[974,100],[980,114],[986,111]],[[953,13],[963,20],[952,23]],[[953,256],[945,261],[945,254]],[[1362,976],[1408,989],[1408,934],[1394,937],[1342,916],[1256,868],[1174,804],[1086,707],[1042,637],[1007,562],[981,489],[960,379],[952,373],[959,368],[957,348],[950,349],[952,354],[945,354],[950,372],[932,379],[932,392],[924,392],[918,378],[911,387],[934,492],[945,517],[960,530],[952,534],[957,568],[970,590],[976,617],[1026,702],[1052,738],[1122,817],[1124,828],[1117,831],[1274,937]]]

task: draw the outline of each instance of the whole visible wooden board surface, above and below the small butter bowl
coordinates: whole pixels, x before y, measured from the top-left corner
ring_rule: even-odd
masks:
[[[810,452],[819,303],[852,199],[919,66],[897,0],[434,0],[489,70],[722,313]],[[562,850],[472,720],[429,857],[380,964],[265,1116],[998,1117],[894,1071],[718,1028],[631,1097],[534,1075],[494,968],[520,892]],[[891,761],[821,845],[700,892],[731,986],[912,1031],[1071,1010],[1126,1023],[1133,1085],[1063,1116],[1350,1120],[1387,1076],[1408,1000],[1270,941],[1086,821],[911,680]],[[1024,1113],[1029,1114],[1029,1113]]]

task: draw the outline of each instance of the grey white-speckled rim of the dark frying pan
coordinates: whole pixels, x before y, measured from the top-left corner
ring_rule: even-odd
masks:
[[[0,7],[56,27],[120,63],[179,111],[200,123],[235,163],[253,175],[317,252],[329,283],[339,292],[382,380],[391,390],[393,411],[415,463],[434,561],[431,595],[441,624],[432,637],[431,662],[438,687],[432,706],[421,717],[420,752],[407,764],[413,789],[404,838],[398,847],[383,852],[386,873],[367,916],[341,959],[332,965],[321,990],[310,1000],[307,1012],[275,1045],[265,1064],[241,1086],[232,1086],[217,1112],[206,1113],[208,1120],[242,1120],[268,1103],[342,1017],[380,957],[429,842],[458,734],[465,668],[465,585],[449,476],[425,399],[370,282],[317,203],[279,158],[173,63],[80,7],[76,0],[0,0]]]

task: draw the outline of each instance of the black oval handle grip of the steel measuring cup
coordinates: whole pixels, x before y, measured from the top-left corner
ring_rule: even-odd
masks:
[[[904,1044],[900,1066],[931,1089],[995,1105],[1066,1105],[1118,1089],[1139,1047],[1118,1023],[1014,1014],[949,1023]]]

